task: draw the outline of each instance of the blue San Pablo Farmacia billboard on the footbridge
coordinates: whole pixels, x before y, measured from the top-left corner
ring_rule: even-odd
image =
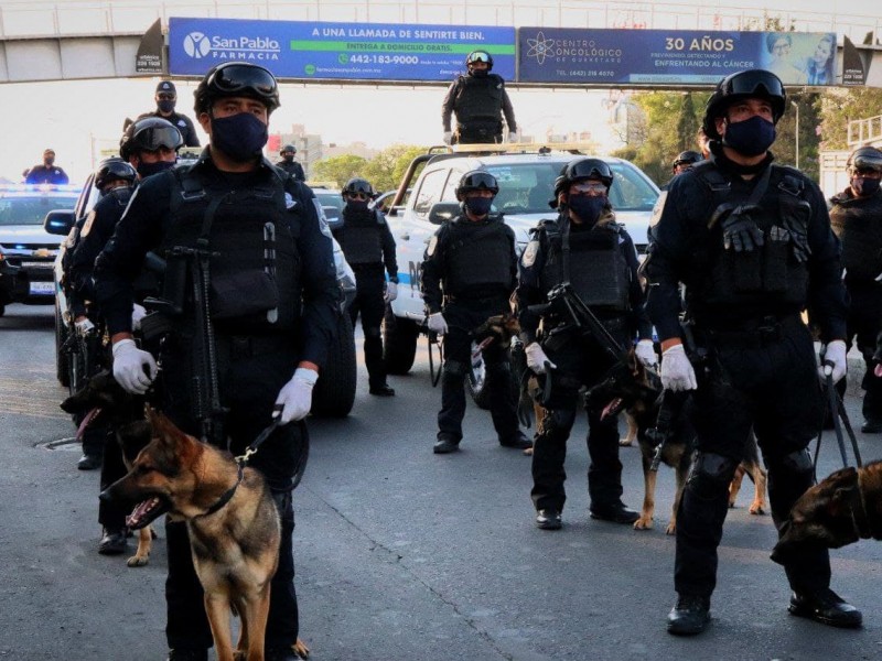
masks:
[[[222,62],[260,64],[280,78],[450,82],[486,50],[515,77],[515,29],[481,25],[169,20],[169,73],[203,75]]]

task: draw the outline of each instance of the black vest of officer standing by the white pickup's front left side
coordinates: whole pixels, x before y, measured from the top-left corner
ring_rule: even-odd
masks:
[[[469,297],[475,291],[510,292],[512,256],[512,232],[502,218],[473,224],[460,217],[445,247],[444,293]]]

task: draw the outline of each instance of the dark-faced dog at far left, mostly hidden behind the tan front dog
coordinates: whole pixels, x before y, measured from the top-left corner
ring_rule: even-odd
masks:
[[[112,375],[100,371],[92,377],[76,393],[61,404],[72,414],[83,416],[77,438],[95,424],[106,424],[122,448],[122,462],[131,470],[138,453],[150,443],[150,423],[144,419],[144,398],[126,392]],[[150,561],[150,549],[155,533],[147,525],[138,531],[138,550],[126,562],[130,567],[142,567]]]

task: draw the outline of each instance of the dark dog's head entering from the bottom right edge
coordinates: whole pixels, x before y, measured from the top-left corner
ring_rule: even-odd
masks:
[[[772,560],[786,564],[809,548],[882,540],[882,462],[841,468],[808,489],[781,527]]]

